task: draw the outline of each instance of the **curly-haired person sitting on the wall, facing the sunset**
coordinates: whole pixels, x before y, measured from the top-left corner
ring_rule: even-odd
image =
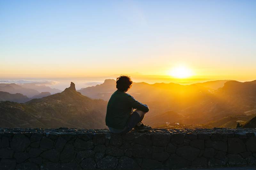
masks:
[[[111,133],[126,134],[132,128],[138,131],[150,130],[142,120],[148,112],[148,106],[135,100],[126,93],[132,86],[132,80],[128,76],[116,78],[117,90],[111,95],[106,114],[106,125]],[[133,112],[133,109],[136,109]]]

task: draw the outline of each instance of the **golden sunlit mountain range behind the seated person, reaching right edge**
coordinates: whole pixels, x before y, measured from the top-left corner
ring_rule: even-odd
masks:
[[[149,112],[144,122],[153,127],[175,121],[208,126],[208,122],[218,121],[224,117],[256,114],[255,82],[217,80],[192,85],[134,82],[128,93],[148,104]],[[116,81],[107,79],[101,85],[83,88],[79,92],[93,99],[108,101],[115,90]],[[242,121],[248,120],[247,118],[248,116]],[[226,125],[232,127],[234,122],[239,121],[235,121],[235,118],[225,120]],[[226,126],[225,123],[220,126]],[[217,124],[216,122],[215,125]]]

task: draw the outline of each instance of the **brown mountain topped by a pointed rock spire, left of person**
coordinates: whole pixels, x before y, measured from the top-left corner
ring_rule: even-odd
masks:
[[[106,128],[107,102],[92,100],[76,92],[75,84],[41,99],[24,104],[0,102],[0,127]]]

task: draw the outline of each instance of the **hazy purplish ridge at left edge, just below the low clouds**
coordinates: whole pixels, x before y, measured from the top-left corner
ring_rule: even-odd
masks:
[[[24,88],[21,85],[17,85],[15,83],[10,83],[10,84],[0,83],[0,91],[9,92],[12,94],[21,93],[23,95],[26,95],[29,98],[40,93],[37,90],[30,89],[30,88]]]

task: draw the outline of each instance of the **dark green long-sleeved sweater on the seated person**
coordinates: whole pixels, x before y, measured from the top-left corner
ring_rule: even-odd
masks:
[[[130,94],[116,90],[107,106],[106,125],[115,129],[124,129],[132,108],[148,112],[148,106],[135,100]]]

